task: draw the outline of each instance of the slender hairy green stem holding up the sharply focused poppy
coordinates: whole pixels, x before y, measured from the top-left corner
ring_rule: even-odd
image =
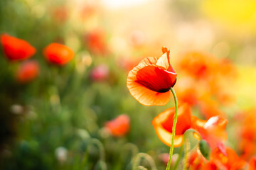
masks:
[[[175,94],[174,89],[171,87],[171,93],[174,95],[174,102],[175,102],[175,114],[174,114],[174,125],[172,129],[172,137],[171,137],[171,147],[170,147],[170,154],[169,154],[169,161],[166,166],[166,170],[171,169],[171,157],[174,154],[174,137],[175,137],[175,130],[176,130],[176,124],[177,124],[177,117],[178,117],[178,99]]]

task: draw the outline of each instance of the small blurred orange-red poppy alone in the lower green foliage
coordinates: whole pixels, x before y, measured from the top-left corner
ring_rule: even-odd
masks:
[[[105,124],[105,127],[110,130],[111,134],[116,137],[121,137],[129,131],[129,116],[119,115],[114,120],[110,120]]]

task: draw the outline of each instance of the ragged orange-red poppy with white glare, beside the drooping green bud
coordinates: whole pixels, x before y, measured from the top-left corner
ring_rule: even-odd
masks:
[[[208,120],[200,120],[193,116],[192,119],[192,128],[197,130],[203,140],[208,142],[210,149],[213,150],[218,147],[226,155],[223,142],[228,138],[228,134],[225,131],[228,121],[220,116],[213,116]],[[201,137],[196,132],[193,135],[196,139],[201,140]]]

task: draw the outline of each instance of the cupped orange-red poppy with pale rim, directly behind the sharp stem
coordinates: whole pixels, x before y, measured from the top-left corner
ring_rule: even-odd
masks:
[[[165,145],[171,146],[172,128],[174,124],[175,108],[168,108],[157,115],[152,124],[156,135]],[[174,147],[180,147],[183,143],[183,134],[191,128],[191,110],[187,104],[178,107],[178,117],[174,137]]]

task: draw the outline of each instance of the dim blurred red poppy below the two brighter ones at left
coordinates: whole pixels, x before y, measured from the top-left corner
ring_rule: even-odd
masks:
[[[21,64],[16,74],[16,79],[20,83],[27,83],[35,79],[39,73],[38,62],[28,61]]]

